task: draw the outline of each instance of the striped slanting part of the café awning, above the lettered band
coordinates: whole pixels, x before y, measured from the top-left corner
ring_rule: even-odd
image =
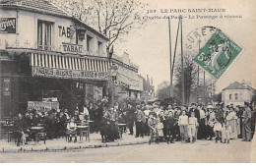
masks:
[[[73,71],[107,72],[110,62],[107,59],[32,53],[31,66]]]

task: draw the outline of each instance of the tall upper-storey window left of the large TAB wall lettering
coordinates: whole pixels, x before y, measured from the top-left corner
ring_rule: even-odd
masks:
[[[42,50],[50,50],[51,49],[52,25],[53,25],[53,23],[38,20],[38,22],[37,22],[38,49],[42,49]]]

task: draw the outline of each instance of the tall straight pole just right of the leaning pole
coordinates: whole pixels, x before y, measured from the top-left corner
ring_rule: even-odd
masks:
[[[182,16],[180,19],[180,53],[181,53],[181,82],[182,82],[182,105],[185,103],[185,83],[184,83],[184,67],[183,67],[183,38],[182,38]]]

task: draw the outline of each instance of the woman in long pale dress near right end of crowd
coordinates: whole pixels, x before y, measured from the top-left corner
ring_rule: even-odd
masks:
[[[230,112],[226,116],[226,124],[231,127],[231,134],[230,138],[237,138],[238,134],[238,123],[237,123],[237,116],[236,112],[234,111],[233,107],[230,107]]]

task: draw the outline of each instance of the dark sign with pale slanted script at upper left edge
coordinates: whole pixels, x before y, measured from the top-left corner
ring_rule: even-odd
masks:
[[[16,33],[16,18],[0,18],[0,32]]]

